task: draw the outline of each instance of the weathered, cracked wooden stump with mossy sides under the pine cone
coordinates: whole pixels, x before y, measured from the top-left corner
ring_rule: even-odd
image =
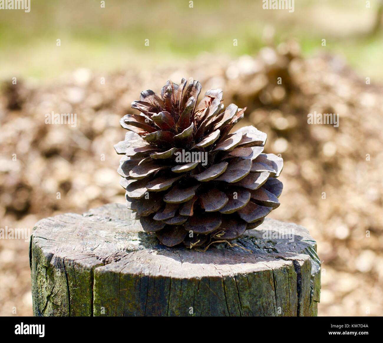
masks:
[[[294,239],[264,236],[283,232]],[[252,253],[165,247],[122,204],[43,219],[30,245],[34,315],[317,314],[320,261],[308,230],[266,219],[232,243]]]

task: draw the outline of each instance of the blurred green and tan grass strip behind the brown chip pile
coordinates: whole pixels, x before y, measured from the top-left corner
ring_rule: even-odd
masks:
[[[377,0],[369,9],[359,0],[296,0],[293,13],[262,10],[261,0],[195,0],[193,8],[187,0],[106,0],[105,5],[34,0],[30,13],[0,10],[0,77],[49,80],[77,67],[111,72],[166,65],[205,51],[252,55],[264,46],[262,32],[270,25],[276,42],[295,38],[305,55],[335,52],[362,76],[376,82],[383,76],[382,34],[365,35]]]

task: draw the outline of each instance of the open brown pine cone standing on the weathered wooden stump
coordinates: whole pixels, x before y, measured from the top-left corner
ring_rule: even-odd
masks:
[[[146,232],[168,247],[233,240],[261,224],[279,206],[283,160],[262,154],[266,134],[253,126],[229,133],[244,116],[222,90],[197,105],[201,84],[167,81],[161,95],[141,92],[120,123],[125,140],[115,145],[126,206]]]

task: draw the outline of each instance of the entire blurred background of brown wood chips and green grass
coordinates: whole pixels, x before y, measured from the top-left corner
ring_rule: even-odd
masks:
[[[383,2],[296,0],[292,13],[261,0],[102,3],[0,10],[0,228],[124,203],[119,118],[141,90],[194,78],[247,106],[238,126],[282,155],[270,216],[318,243],[318,314],[382,315]],[[77,126],[45,124],[52,111],[77,113]],[[309,125],[314,111],[339,113],[339,127]],[[32,315],[28,258],[28,242],[0,239],[0,315]]]

